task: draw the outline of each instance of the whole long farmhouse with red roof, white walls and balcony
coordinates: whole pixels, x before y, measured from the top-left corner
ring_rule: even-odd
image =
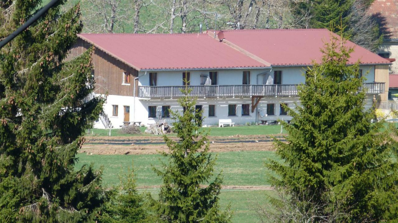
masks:
[[[96,94],[109,94],[105,117],[113,127],[140,121],[148,125],[159,117],[171,122],[168,109],[183,111],[177,103],[189,80],[203,125],[232,119],[236,125],[290,120],[281,104],[294,108],[297,85],[314,61],[321,62],[327,29],[226,30],[205,34],[81,34],[71,56],[94,45]],[[388,65],[361,46],[349,63],[361,62],[367,80],[367,106],[387,100]]]

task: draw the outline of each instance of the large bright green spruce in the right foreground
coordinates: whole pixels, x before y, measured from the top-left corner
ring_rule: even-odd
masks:
[[[396,142],[384,122],[371,123],[375,111],[364,108],[365,78],[359,62],[347,64],[353,49],[341,36],[332,35],[322,63],[306,73],[300,105],[286,108],[293,117],[290,125],[282,122],[287,142],[275,142],[284,161],[267,167],[277,174],[273,185],[303,202],[310,197],[327,204],[325,215],[343,211],[339,222],[396,221]]]

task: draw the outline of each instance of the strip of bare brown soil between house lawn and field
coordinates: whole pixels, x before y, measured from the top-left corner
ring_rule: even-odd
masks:
[[[273,137],[283,135],[209,136],[211,152],[273,151]],[[178,140],[177,137],[170,137]],[[156,154],[168,152],[162,136],[86,136],[81,153],[86,154]]]

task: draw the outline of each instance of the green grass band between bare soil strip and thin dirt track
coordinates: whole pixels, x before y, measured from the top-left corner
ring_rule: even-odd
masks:
[[[119,175],[127,173],[134,162],[137,186],[154,186],[162,182],[153,172],[151,165],[160,167],[155,154],[144,155],[87,155],[78,154],[76,168],[94,163],[96,168],[103,166],[103,185],[107,188],[119,183]],[[222,171],[223,185],[269,185],[264,161],[267,158],[277,159],[271,151],[220,152],[217,154],[215,173]]]

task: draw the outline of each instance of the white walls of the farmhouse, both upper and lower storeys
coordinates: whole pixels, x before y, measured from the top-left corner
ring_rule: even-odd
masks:
[[[366,82],[373,82],[375,77],[375,67],[372,65],[361,66],[363,69],[363,75],[369,72],[365,77]],[[272,73],[275,70],[282,71],[282,84],[298,84],[305,81],[303,73],[305,69],[302,67],[274,67]],[[219,85],[241,85],[242,84],[242,73],[244,70],[215,70],[218,73]],[[253,69],[250,70],[250,84],[257,84],[257,75],[260,73],[268,72],[269,69]],[[157,72],[158,86],[181,86],[182,85],[182,72],[183,71],[159,71]],[[209,71],[189,71],[191,72],[191,85],[200,85],[200,75],[208,75]],[[149,72],[139,72],[139,85],[149,85]],[[294,107],[294,102],[299,102],[298,98],[291,97],[264,97],[258,104],[257,111],[263,110],[264,113],[267,111],[267,104],[275,104],[275,115],[267,117],[259,117],[258,119],[265,120],[277,120],[284,119],[290,120],[291,117],[287,115],[279,115],[280,103],[287,103],[289,107]],[[371,108],[373,102],[373,96],[367,96],[367,108]],[[214,104],[216,107],[216,116],[207,117],[203,125],[218,125],[219,119],[232,119],[236,125],[244,125],[246,123],[255,122],[258,113],[251,112],[252,99],[250,97],[245,98],[198,98],[197,104],[203,105],[203,115],[208,116],[209,105]],[[236,104],[236,116],[228,116],[228,104]],[[242,104],[250,104],[250,115],[242,116]],[[117,116],[112,116],[112,105],[118,105],[119,112]],[[182,112],[182,108],[178,105],[176,98],[174,99],[159,99],[152,98],[150,100],[143,98],[134,98],[132,96],[118,96],[109,95],[107,102],[104,105],[104,112],[108,115],[113,126],[120,128],[123,125],[124,110],[123,106],[130,106],[130,120],[129,121],[141,121],[142,124],[148,125],[154,123],[156,118],[148,118],[148,106],[157,106],[157,114],[161,112],[162,106],[170,106],[171,110],[179,110]],[[170,118],[166,121],[172,122]],[[99,123],[95,127],[100,127]]]

